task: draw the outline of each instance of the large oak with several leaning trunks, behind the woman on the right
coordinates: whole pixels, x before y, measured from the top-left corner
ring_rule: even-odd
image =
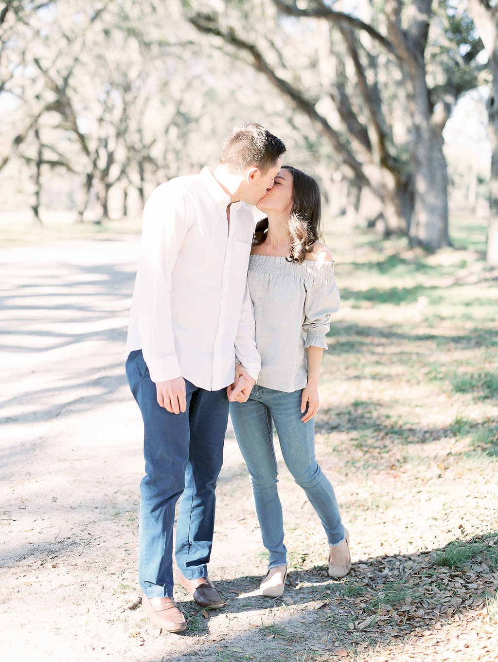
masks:
[[[476,85],[479,40],[446,3],[431,0],[360,3],[364,19],[339,11],[339,2],[273,3],[274,15],[259,2],[232,0],[217,11],[184,1],[190,23],[249,60],[308,115],[362,197],[367,188],[376,196],[386,232],[409,232],[413,244],[432,250],[448,244],[442,129],[459,95]],[[317,86],[324,59],[335,73]]]

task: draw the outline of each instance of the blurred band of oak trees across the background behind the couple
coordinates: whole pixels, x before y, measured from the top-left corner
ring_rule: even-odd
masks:
[[[3,218],[138,216],[256,121],[317,176],[328,218],[448,246],[452,214],[489,214],[493,72],[471,5],[4,0]]]

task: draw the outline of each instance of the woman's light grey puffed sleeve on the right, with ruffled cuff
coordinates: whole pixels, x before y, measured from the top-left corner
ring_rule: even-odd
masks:
[[[334,263],[324,262],[320,267],[318,272],[310,273],[305,279],[304,346],[308,348],[311,345],[326,350],[325,336],[330,330],[331,314],[339,310],[341,299],[334,278]]]

